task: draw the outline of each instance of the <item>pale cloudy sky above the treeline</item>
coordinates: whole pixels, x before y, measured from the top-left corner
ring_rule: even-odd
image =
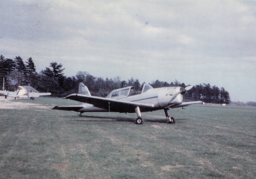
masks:
[[[224,87],[256,101],[256,1],[0,0],[0,54],[140,83]]]

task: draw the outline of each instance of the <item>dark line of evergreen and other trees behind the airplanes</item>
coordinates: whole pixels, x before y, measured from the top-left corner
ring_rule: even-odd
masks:
[[[134,78],[127,81],[121,80],[118,76],[114,79],[97,78],[85,71],[78,71],[75,76],[65,76],[63,70],[65,68],[62,67],[61,63],[51,62],[49,67],[38,73],[31,57],[24,61],[19,56],[14,59],[6,59],[3,55],[0,56],[0,83],[3,84],[4,77],[5,89],[9,91],[17,89],[18,86],[30,85],[40,92],[51,92],[53,96],[66,96],[77,93],[78,84],[83,82],[88,86],[92,95],[106,96],[113,89],[126,86],[134,86],[139,92],[145,83],[141,84],[138,79]],[[156,80],[151,85],[154,88],[169,86],[185,88],[187,86],[177,80],[171,83]],[[223,87],[210,86],[210,84],[194,86],[184,95],[184,99],[187,101],[202,100],[205,103],[230,103],[229,93]]]

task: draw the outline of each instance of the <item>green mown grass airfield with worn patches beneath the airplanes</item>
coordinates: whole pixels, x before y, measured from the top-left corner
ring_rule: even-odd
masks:
[[[256,178],[256,109],[195,105],[136,114],[0,101],[0,178]]]

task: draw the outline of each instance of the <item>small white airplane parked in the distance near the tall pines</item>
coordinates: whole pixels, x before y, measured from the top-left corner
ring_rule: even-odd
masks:
[[[51,93],[40,93],[31,86],[18,86],[17,91],[0,91],[0,94],[4,94],[8,97],[16,98],[30,98],[35,99],[35,97],[51,95]]]

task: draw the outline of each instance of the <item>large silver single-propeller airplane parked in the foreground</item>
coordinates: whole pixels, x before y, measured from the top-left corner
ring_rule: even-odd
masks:
[[[80,83],[78,94],[70,94],[65,98],[80,101],[81,105],[55,106],[53,109],[80,112],[80,116],[84,112],[136,113],[137,124],[143,124],[141,112],[163,109],[166,121],[175,123],[175,118],[169,116],[169,109],[202,103],[202,101],[183,102],[183,94],[191,88],[193,86],[153,88],[149,84],[144,84],[140,94],[130,86],[113,90],[106,97],[97,97],[92,96],[87,86]]]

